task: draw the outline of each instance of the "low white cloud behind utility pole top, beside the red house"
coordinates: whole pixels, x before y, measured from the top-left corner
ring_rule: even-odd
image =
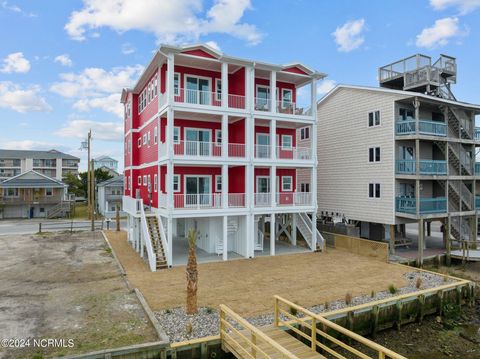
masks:
[[[94,140],[123,141],[123,123],[121,121],[71,120],[55,134],[60,137],[84,139],[90,129]]]

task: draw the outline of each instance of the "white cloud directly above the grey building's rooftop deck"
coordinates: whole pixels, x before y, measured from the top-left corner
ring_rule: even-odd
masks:
[[[445,46],[455,37],[464,36],[465,33],[458,26],[457,17],[446,17],[435,21],[431,27],[427,27],[417,35],[415,44],[418,47],[433,49],[439,46]]]

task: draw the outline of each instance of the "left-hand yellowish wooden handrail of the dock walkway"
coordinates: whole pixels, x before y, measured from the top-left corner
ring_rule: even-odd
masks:
[[[236,322],[237,324],[240,324],[245,330],[250,332],[250,338],[249,339],[247,336],[241,334],[238,329],[236,329],[231,323],[229,323],[228,320],[225,319],[225,317],[229,317],[231,320]],[[280,344],[278,344],[275,340],[270,338],[268,335],[263,333],[261,330],[250,324],[248,321],[246,321],[244,318],[239,316],[237,313],[235,313],[233,310],[231,310],[229,307],[227,307],[224,304],[220,304],[220,338],[223,341],[231,340],[235,342],[242,350],[246,351],[245,348],[243,348],[242,345],[240,345],[231,335],[227,333],[227,330],[225,328],[225,325],[227,325],[231,330],[236,331],[237,334],[239,334],[244,341],[247,342],[248,346],[251,347],[252,351],[261,351],[266,358],[271,358],[267,353],[265,353],[264,350],[259,348],[259,346],[256,344],[256,339],[261,339],[264,343],[267,345],[271,346],[273,349],[275,349],[277,352],[279,352],[283,357],[287,357],[290,359],[299,359],[296,355],[282,347]],[[225,337],[228,337],[226,340]],[[247,352],[248,353],[248,352]],[[249,354],[249,353],[248,353]],[[250,357],[255,357],[256,355],[248,355]]]

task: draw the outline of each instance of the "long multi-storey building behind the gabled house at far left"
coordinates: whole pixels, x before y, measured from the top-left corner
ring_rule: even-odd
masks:
[[[24,151],[0,149],[0,180],[34,170],[62,180],[67,173],[78,174],[78,157],[57,151]]]

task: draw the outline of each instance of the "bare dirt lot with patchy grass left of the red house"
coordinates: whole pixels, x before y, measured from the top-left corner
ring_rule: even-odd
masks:
[[[3,351],[37,358],[156,341],[101,233],[0,236],[0,339],[73,339],[73,348]]]

